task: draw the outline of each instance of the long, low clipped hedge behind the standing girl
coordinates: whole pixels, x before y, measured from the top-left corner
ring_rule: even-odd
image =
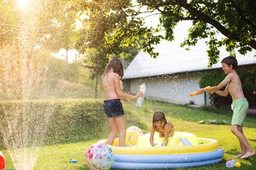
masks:
[[[127,115],[127,127],[146,129]],[[0,117],[0,138],[10,146],[101,140],[111,132],[100,99],[5,101],[0,102]]]

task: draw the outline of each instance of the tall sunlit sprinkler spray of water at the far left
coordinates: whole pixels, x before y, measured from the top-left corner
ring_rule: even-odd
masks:
[[[45,87],[51,86],[47,77],[47,58],[42,58],[46,50],[42,48],[46,43],[42,37],[46,32],[24,29],[35,27],[33,24],[39,20],[44,4],[50,1],[36,2],[38,4],[34,4],[32,10],[20,14],[16,25],[22,28],[7,30],[0,27],[0,32],[8,31],[0,35],[0,138],[3,138],[17,170],[33,170],[39,147],[47,139],[49,117],[54,109],[51,104],[38,107],[36,101],[29,101],[44,99]],[[17,10],[17,6],[13,9]]]

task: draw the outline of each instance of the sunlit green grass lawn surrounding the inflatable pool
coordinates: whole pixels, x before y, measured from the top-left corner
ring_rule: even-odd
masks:
[[[135,101],[133,101],[135,102]],[[143,127],[144,133],[149,133],[152,126],[152,116],[155,111],[162,110],[166,114],[166,119],[174,124],[175,131],[193,133],[201,138],[212,138],[218,140],[220,147],[224,150],[223,161],[218,164],[203,167],[180,168],[182,170],[226,170],[225,163],[229,158],[240,153],[239,141],[230,132],[231,111],[222,111],[216,109],[195,109],[187,106],[169,104],[166,102],[145,100],[143,107],[123,104],[126,112],[127,126],[137,126],[133,120],[146,124]],[[216,120],[218,124],[198,124],[198,121]],[[226,121],[227,124],[221,124]],[[95,126],[100,126],[96,124]],[[127,127],[127,128],[128,128]],[[102,127],[110,129],[110,127]],[[244,134],[250,145],[256,150],[256,118],[247,117],[244,124]],[[79,130],[78,130],[79,131]],[[108,131],[109,132],[109,131]],[[95,133],[93,130],[89,133]],[[39,148],[38,158],[35,162],[34,170],[89,170],[84,161],[84,155],[91,144],[107,138],[109,134],[104,134],[103,138],[93,139],[86,142],[70,142],[67,144],[58,144]],[[9,153],[1,150],[6,157],[6,168],[13,168]],[[69,159],[78,160],[77,163],[70,163]],[[256,156],[244,160],[236,159],[241,163],[240,170],[256,170]]]

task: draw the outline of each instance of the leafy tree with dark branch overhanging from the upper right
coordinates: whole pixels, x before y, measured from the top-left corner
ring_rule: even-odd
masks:
[[[174,40],[173,29],[182,20],[193,21],[181,44],[186,50],[198,39],[210,38],[209,67],[218,62],[220,46],[225,45],[230,55],[235,55],[235,49],[242,55],[256,49],[255,0],[136,0],[135,4],[131,0],[91,0],[82,4],[76,5],[76,9],[90,17],[90,26],[81,32],[76,43],[76,49],[82,53],[93,48],[108,58],[118,55],[125,46],[135,46],[139,37],[144,37],[143,51],[157,58],[159,54],[152,45],[163,38]],[[147,11],[142,11],[143,7]],[[143,27],[144,17],[140,15],[143,13],[160,14],[157,29]],[[165,37],[153,35],[160,29],[165,29]],[[217,40],[217,33],[226,38]]]

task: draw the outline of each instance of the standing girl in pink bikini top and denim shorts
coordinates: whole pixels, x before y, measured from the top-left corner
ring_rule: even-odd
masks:
[[[102,75],[102,86],[105,93],[104,112],[107,115],[111,126],[111,133],[108,136],[107,144],[113,145],[117,133],[119,132],[119,147],[125,147],[125,112],[122,108],[120,99],[125,103],[131,104],[128,99],[143,97],[143,92],[137,95],[128,95],[122,92],[119,78],[124,75],[122,61],[113,58],[106,66]]]

